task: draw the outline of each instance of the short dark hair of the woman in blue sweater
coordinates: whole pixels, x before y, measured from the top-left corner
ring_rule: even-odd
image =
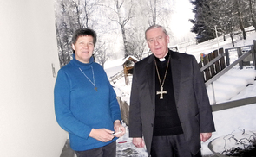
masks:
[[[95,46],[96,41],[97,41],[97,35],[96,35],[96,32],[90,28],[80,28],[80,29],[75,30],[75,33],[72,37],[72,44],[75,45],[75,42],[77,41],[77,39],[80,36],[86,36],[86,35],[90,35],[94,38],[93,42],[94,42],[94,46]]]

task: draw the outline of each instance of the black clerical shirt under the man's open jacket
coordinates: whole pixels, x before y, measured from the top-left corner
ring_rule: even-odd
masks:
[[[161,83],[164,79],[164,75],[167,69],[167,61],[169,53],[165,57],[165,61],[160,61],[155,58],[156,65],[161,78]],[[155,70],[155,94],[157,91],[161,91],[161,85],[158,79],[157,71]],[[167,91],[163,94],[163,99],[160,99],[160,95],[155,96],[155,118],[154,118],[154,136],[163,135],[179,135],[182,134],[181,121],[178,116],[175,100],[174,100],[174,86],[171,72],[171,63],[169,63],[167,69],[166,80],[163,85],[163,91]]]

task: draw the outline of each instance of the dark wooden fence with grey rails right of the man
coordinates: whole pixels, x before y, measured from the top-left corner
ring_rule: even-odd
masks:
[[[245,47],[246,50],[243,50]],[[238,59],[235,60],[233,63],[230,64],[229,60],[229,51],[237,51],[238,53]],[[216,53],[215,50],[214,52]],[[207,54],[206,58],[203,58],[203,60],[199,63],[200,71],[203,72],[205,77],[205,84],[213,85],[213,81],[216,79],[219,79],[220,76],[222,76],[224,73],[229,71],[233,66],[236,66],[237,64],[240,65],[240,69],[243,68],[243,66],[251,65],[251,61],[253,61],[254,69],[256,70],[256,41],[253,41],[253,45],[250,46],[244,46],[244,47],[233,47],[225,50],[225,54],[223,53],[223,48],[220,48],[217,55],[217,57],[212,58],[214,56],[213,53]],[[225,64],[225,58],[226,58],[226,64]],[[205,61],[206,60],[206,61]],[[204,65],[204,66],[203,66]],[[255,104],[256,103],[256,97],[248,97],[236,101],[226,102],[223,104],[215,104],[215,97],[214,97],[214,91],[213,91],[213,104],[212,108],[213,111],[217,110],[225,110],[230,109],[233,107],[239,107],[246,104]]]

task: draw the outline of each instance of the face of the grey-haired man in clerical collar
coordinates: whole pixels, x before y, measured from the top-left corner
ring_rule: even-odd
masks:
[[[163,58],[168,53],[169,36],[162,28],[153,28],[146,32],[148,47],[157,58]]]

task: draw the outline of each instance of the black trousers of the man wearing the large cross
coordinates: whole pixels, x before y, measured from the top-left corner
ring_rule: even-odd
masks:
[[[153,136],[151,157],[201,157],[191,154],[184,135]]]

